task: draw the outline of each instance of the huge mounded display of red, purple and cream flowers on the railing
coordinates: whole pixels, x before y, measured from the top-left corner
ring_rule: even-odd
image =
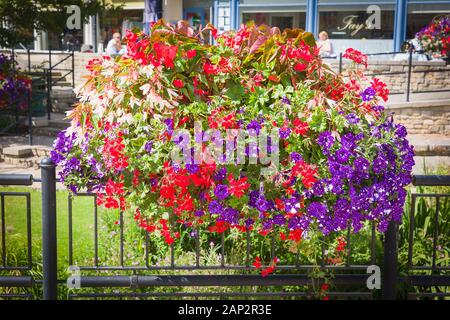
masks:
[[[217,44],[203,43],[209,32]],[[386,85],[362,75],[360,52],[344,55],[354,61],[344,77],[302,30],[218,36],[208,25],[194,35],[160,21],[126,41],[125,56],[87,65],[72,125],[55,141],[72,192],[98,193],[168,244],[180,225],[296,245],[401,220],[413,148],[383,112]]]

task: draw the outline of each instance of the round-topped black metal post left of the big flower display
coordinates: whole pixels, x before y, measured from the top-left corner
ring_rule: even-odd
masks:
[[[42,269],[44,300],[57,299],[56,166],[49,158],[41,163],[42,177]]]

